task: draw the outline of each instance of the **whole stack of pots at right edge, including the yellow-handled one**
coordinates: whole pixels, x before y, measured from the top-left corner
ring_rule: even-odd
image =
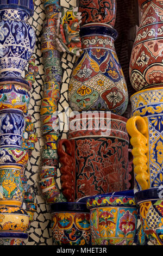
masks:
[[[130,58],[134,89],[132,117],[127,130],[133,145],[135,198],[140,206],[142,232],[154,245],[162,245],[162,1],[138,1],[142,9]]]

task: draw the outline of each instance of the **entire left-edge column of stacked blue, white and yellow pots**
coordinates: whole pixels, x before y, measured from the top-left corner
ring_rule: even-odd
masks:
[[[28,237],[21,170],[28,161],[22,139],[30,85],[21,74],[35,47],[35,33],[28,24],[33,10],[33,0],[0,1],[0,239],[8,245],[21,244]]]

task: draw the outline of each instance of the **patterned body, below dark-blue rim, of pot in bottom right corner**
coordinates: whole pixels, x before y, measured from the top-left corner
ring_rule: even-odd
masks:
[[[149,200],[140,203],[140,220],[143,231],[154,245],[163,245],[163,201]]]

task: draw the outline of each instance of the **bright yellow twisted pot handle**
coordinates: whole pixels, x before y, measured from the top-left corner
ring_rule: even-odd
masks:
[[[148,120],[146,117],[131,117],[127,121],[126,128],[131,136],[130,143],[133,146],[135,179],[139,182],[142,190],[146,190],[149,188]]]

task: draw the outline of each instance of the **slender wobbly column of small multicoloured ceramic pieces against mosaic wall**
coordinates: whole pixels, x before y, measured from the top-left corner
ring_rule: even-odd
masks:
[[[40,114],[45,146],[42,151],[42,168],[39,173],[39,183],[46,202],[54,203],[58,200],[65,200],[56,181],[58,168],[57,141],[60,138],[60,133],[55,129],[58,125],[58,117],[55,112],[58,109],[58,100],[60,99],[62,68],[55,38],[60,6],[58,0],[45,0],[43,5],[45,7],[46,20],[43,23],[41,51],[43,54],[45,82],[43,83]]]

